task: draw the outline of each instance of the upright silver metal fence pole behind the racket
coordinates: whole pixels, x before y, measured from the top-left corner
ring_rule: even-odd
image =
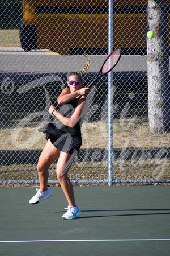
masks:
[[[108,53],[113,51],[113,0],[109,0]],[[113,185],[113,72],[108,74],[108,184]]]

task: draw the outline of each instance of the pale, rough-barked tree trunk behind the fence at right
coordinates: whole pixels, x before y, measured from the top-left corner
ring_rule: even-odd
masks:
[[[170,127],[166,2],[166,0],[148,0],[148,31],[154,31],[155,33],[154,38],[147,38],[148,121],[150,133],[161,133],[167,131]]]

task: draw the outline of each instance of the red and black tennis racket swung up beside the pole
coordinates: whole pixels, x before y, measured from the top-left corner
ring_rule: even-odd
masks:
[[[91,81],[90,84],[87,86],[88,88],[91,88],[97,79],[109,73],[117,65],[118,61],[121,58],[121,53],[121,49],[115,49],[113,52],[111,52],[111,54],[109,54],[107,59],[104,61],[102,67],[100,68],[100,71],[95,77],[95,79]]]

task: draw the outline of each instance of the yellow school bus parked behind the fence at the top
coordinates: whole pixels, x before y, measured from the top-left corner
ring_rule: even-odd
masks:
[[[145,54],[146,9],[147,0],[114,0],[114,48]],[[20,42],[25,51],[107,54],[108,1],[22,0]]]

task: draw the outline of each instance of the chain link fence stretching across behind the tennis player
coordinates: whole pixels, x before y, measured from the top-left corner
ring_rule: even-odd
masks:
[[[165,7],[167,8],[167,7]],[[169,10],[169,9],[168,9]],[[170,13],[170,12],[169,12]],[[169,40],[169,14],[168,14]],[[36,164],[50,104],[79,71],[84,86],[108,54],[108,1],[1,2],[0,183],[39,183]],[[147,1],[113,3],[113,48],[122,57],[113,71],[113,182],[169,182],[169,132],[149,131],[147,108]],[[108,183],[108,77],[88,94],[83,144],[70,168],[75,183]],[[49,183],[57,183],[56,163]]]

